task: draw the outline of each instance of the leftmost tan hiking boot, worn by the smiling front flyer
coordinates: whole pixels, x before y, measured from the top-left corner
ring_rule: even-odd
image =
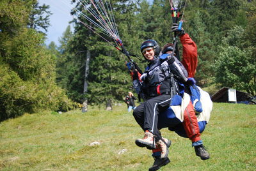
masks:
[[[150,131],[146,131],[143,139],[135,140],[135,144],[139,147],[147,147],[148,149],[156,149],[154,135]]]

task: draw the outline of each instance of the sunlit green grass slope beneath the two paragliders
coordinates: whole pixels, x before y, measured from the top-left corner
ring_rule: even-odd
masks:
[[[164,129],[171,163],[161,170],[256,170],[255,128],[256,105],[214,103],[202,134],[211,158],[200,160],[188,138]],[[151,151],[134,144],[142,137],[126,105],[25,114],[0,123],[0,170],[148,170]]]

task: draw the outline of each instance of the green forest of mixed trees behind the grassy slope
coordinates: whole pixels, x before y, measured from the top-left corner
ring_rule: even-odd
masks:
[[[74,31],[68,26],[60,45],[46,45],[48,4],[0,1],[0,121],[45,109],[123,103],[134,92],[129,59],[113,37],[92,26],[97,19],[86,10],[90,5],[69,3],[76,6],[70,11]],[[141,70],[147,66],[143,41],[172,43],[169,0],[109,0],[109,6],[116,32],[107,33],[122,40]],[[179,8],[182,27],[198,48],[196,84],[210,94],[231,87],[256,96],[256,1],[184,0]],[[179,42],[178,47],[182,56]]]

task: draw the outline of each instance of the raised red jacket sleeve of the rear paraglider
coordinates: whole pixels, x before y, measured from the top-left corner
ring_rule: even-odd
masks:
[[[188,71],[188,77],[195,77],[197,66],[196,43],[189,37],[188,33],[180,36],[180,42],[182,43],[183,47],[181,63]]]

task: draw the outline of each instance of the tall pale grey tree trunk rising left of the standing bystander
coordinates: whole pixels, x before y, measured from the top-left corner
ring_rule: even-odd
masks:
[[[85,69],[84,69],[84,91],[83,94],[86,94],[88,91],[88,82],[87,82],[87,77],[89,74],[89,64],[90,64],[90,59],[91,59],[91,52],[90,50],[87,50],[86,52],[86,60],[85,60]],[[82,112],[87,112],[88,108],[88,100],[85,98],[83,101],[83,108]]]

